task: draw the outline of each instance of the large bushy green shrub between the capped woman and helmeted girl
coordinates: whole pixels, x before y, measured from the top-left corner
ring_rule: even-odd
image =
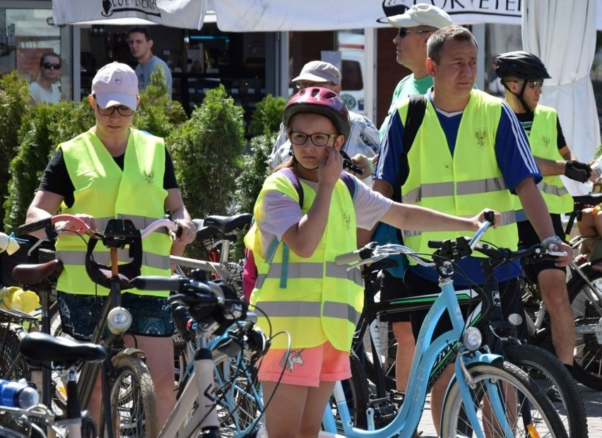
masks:
[[[223,85],[209,90],[191,118],[167,138],[182,199],[191,217],[235,212],[235,179],[240,173],[244,140],[243,109]],[[201,243],[187,255],[203,257]]]

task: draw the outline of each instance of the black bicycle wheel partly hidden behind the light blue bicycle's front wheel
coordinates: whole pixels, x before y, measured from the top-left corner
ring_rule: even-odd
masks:
[[[504,345],[504,357],[543,389],[569,437],[587,437],[587,415],[579,387],[555,355],[533,345]]]

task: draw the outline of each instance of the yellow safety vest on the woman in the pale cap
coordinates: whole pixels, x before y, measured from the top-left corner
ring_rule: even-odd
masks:
[[[90,214],[100,231],[112,218],[131,219],[136,228],[143,229],[165,214],[167,190],[163,188],[165,144],[162,138],[131,129],[123,171],[91,130],[59,147],[75,188],[73,205],[69,208],[63,203],[62,212]],[[145,238],[141,274],[169,276],[171,244],[171,238],[164,231]],[[59,235],[56,248],[57,258],[64,264],[57,283],[59,291],[85,295],[109,293],[109,289],[94,284],[85,272],[86,244],[82,238]],[[96,245],[94,258],[101,264],[110,264],[109,250],[102,243]],[[120,263],[130,260],[128,248],[119,250]],[[128,291],[146,296],[169,295],[169,291]]]

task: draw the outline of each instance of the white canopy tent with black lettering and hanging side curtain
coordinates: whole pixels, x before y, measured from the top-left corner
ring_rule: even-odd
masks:
[[[600,130],[589,71],[596,28],[602,30],[602,0],[385,1],[406,6],[435,4],[459,24],[522,23],[524,49],[541,56],[553,76],[545,83],[542,102],[558,109],[567,142],[579,159],[591,158],[600,142]],[[598,4],[601,6],[596,8]],[[57,25],[146,23],[201,29],[204,22],[215,21],[224,32],[386,27],[386,22],[377,22],[384,15],[382,7],[382,0],[52,0]],[[368,66],[375,65],[374,47],[374,32],[372,37],[367,32]],[[281,56],[286,59],[288,55],[283,52]],[[285,68],[288,66],[283,65],[280,74],[288,78]],[[365,95],[369,108],[368,102],[374,105],[376,85],[370,68],[366,79],[366,83],[374,84]]]

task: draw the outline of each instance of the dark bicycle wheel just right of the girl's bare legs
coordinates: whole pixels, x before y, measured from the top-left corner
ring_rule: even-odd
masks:
[[[343,380],[341,384],[343,384],[343,391],[345,391],[345,399],[353,425],[365,429],[367,427],[366,408],[370,402],[370,388],[368,387],[364,366],[353,351],[350,354],[350,361],[351,378]],[[334,397],[331,397],[329,403],[337,423],[337,429],[339,432],[343,432]]]

